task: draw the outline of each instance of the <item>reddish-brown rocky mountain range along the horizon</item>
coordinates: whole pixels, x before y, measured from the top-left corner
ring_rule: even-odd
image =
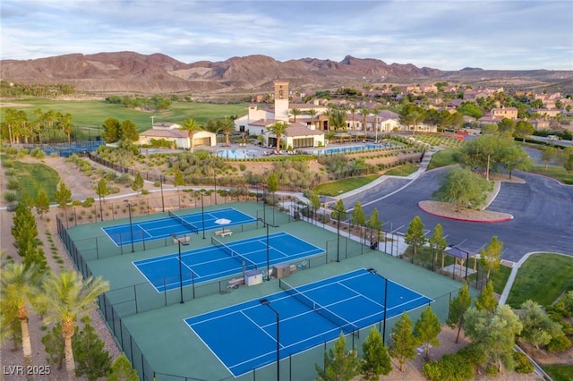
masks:
[[[97,94],[253,93],[271,89],[273,80],[278,79],[289,80],[293,89],[440,80],[472,86],[559,88],[573,92],[573,71],[464,68],[447,72],[350,55],[340,62],[316,58],[280,62],[266,55],[248,55],[222,62],[182,63],[162,54],[73,54],[26,61],[2,60],[0,77],[17,83],[67,83],[82,92]]]

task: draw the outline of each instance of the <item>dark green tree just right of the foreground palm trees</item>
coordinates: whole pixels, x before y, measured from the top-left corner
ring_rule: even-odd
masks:
[[[72,338],[73,356],[76,362],[75,375],[85,376],[90,381],[106,377],[111,370],[111,356],[104,349],[105,343],[98,337],[90,318],[82,319],[83,329],[75,327]]]

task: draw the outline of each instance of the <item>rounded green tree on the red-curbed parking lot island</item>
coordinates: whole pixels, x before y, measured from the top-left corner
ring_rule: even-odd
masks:
[[[455,203],[459,211],[463,207],[482,205],[488,187],[489,182],[479,174],[464,168],[452,168],[439,179],[439,188],[432,193],[432,197],[442,202]]]

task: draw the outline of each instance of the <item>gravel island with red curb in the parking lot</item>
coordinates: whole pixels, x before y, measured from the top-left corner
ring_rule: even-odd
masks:
[[[460,208],[456,204],[448,202],[438,202],[424,200],[418,202],[424,212],[432,216],[440,216],[451,220],[475,222],[475,223],[499,223],[513,219],[509,213],[493,212],[491,210],[475,210],[469,208]]]

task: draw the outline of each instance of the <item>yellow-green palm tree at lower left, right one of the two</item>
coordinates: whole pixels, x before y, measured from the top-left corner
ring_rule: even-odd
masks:
[[[47,311],[44,320],[47,324],[58,322],[62,325],[65,369],[71,381],[76,379],[72,351],[75,323],[96,308],[95,301],[101,293],[109,290],[109,284],[101,277],[90,276],[84,281],[79,273],[63,270],[60,275],[50,273],[43,287],[44,293],[39,296],[39,300]]]

